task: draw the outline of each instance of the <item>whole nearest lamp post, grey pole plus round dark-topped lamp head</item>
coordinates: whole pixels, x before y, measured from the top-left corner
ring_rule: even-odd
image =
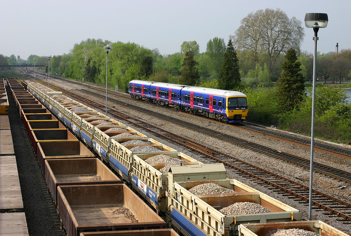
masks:
[[[312,218],[312,184],[313,184],[313,149],[314,149],[314,102],[316,97],[316,63],[317,63],[317,33],[319,28],[325,28],[328,24],[328,15],[326,13],[306,13],[305,26],[313,28],[314,31],[314,52],[313,52],[313,87],[312,87],[312,124],[311,124],[311,159],[310,159],[310,197],[309,197],[309,214]]]

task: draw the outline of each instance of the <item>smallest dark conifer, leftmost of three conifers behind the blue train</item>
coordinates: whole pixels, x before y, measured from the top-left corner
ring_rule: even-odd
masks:
[[[185,54],[183,70],[181,71],[180,83],[184,85],[195,85],[200,78],[194,53],[190,50]]]

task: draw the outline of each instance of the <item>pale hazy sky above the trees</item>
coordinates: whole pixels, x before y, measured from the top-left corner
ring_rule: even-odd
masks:
[[[178,52],[183,41],[196,40],[204,52],[208,40],[228,41],[242,18],[265,8],[280,8],[302,21],[302,50],[313,51],[313,29],[303,22],[310,12],[329,17],[328,26],[318,32],[318,51],[335,51],[337,42],[339,50],[351,48],[350,0],[1,0],[0,6],[0,54],[23,59],[68,53],[87,38],[135,42],[161,54]]]

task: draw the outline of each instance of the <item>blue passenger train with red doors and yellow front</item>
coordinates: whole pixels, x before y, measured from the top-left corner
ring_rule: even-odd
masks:
[[[134,99],[171,106],[221,122],[243,122],[247,116],[247,97],[237,91],[137,79],[129,82],[128,91]]]

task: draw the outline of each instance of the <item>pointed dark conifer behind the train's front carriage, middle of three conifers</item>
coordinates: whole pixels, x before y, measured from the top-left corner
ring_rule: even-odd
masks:
[[[240,85],[240,72],[237,58],[237,52],[234,49],[232,40],[228,42],[225,51],[222,67],[218,74],[218,88],[232,90]]]

